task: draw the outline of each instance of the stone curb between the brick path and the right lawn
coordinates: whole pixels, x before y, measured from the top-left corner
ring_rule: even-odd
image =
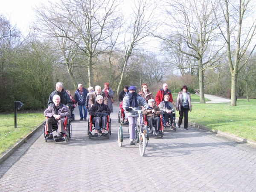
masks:
[[[215,129],[212,129],[212,128],[209,128],[209,127],[205,127],[205,126],[199,125],[195,122],[189,122],[189,125],[194,127],[194,128],[199,128],[199,129],[202,129],[204,131],[209,131],[209,132],[212,132],[214,134],[218,134],[219,136],[227,137],[231,140],[236,140],[237,142],[240,142],[240,143],[247,143],[247,144],[252,145],[253,147],[256,147],[256,142],[252,141],[252,140],[247,140],[247,139],[244,139],[242,137],[238,137],[238,136],[233,135],[233,134],[228,134],[228,133],[219,131],[218,129],[215,130]]]

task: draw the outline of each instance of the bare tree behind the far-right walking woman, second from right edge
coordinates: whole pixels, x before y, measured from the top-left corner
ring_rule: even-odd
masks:
[[[210,0],[168,1],[165,8],[171,20],[166,22],[170,27],[171,35],[167,37],[158,35],[174,51],[197,61],[201,103],[205,103],[204,71],[207,68],[217,67],[216,61],[223,48],[223,44],[216,42],[219,36],[216,33],[218,27],[213,15],[216,6],[218,5],[212,5]]]

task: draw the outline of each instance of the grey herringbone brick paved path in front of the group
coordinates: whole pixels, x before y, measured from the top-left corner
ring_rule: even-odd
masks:
[[[78,120],[70,143],[45,143],[39,130],[0,165],[0,191],[256,191],[256,149],[250,145],[179,128],[150,137],[141,157],[128,139],[118,146],[118,110],[111,114],[110,139],[89,139],[87,122]],[[79,119],[78,108],[75,114]]]

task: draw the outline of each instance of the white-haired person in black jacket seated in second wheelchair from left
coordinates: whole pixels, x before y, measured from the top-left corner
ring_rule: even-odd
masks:
[[[93,104],[90,108],[89,114],[92,116],[92,121],[95,123],[95,133],[94,137],[98,137],[98,132],[100,129],[100,125],[102,125],[102,137],[107,137],[105,134],[105,129],[108,122],[108,115],[110,115],[111,111],[108,105],[103,103],[103,96],[98,95],[96,97],[96,103]]]

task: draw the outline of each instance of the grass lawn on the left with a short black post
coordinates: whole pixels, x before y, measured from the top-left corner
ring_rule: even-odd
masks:
[[[14,113],[0,114],[0,154],[32,132],[45,120],[44,112],[17,113],[17,128],[14,128]]]

